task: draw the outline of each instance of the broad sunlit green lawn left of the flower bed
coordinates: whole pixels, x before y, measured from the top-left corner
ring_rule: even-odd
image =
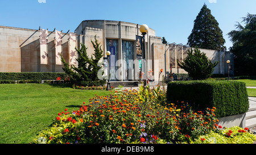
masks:
[[[108,95],[109,91],[76,90],[53,84],[1,84],[0,144],[31,143],[59,112],[65,108],[78,110],[95,94]]]

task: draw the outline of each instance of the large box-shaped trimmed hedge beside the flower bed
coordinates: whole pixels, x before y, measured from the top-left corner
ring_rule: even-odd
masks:
[[[167,86],[167,100],[184,101],[195,110],[216,107],[216,117],[243,114],[249,109],[248,94],[240,81],[176,81]]]

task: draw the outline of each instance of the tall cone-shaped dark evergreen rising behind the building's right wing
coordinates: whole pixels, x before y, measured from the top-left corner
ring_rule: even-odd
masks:
[[[218,22],[204,4],[199,14],[194,20],[193,30],[188,37],[190,47],[213,49],[216,51],[226,51],[225,39],[222,31],[218,27]]]

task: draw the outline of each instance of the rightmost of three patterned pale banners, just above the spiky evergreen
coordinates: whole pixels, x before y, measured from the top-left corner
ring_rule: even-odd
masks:
[[[76,63],[76,33],[69,33],[69,56],[70,56],[70,64],[69,65],[77,65]]]

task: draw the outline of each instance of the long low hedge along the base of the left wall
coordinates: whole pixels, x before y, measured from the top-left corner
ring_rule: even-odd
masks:
[[[21,72],[21,73],[0,73],[0,80],[51,80],[60,77],[61,79],[67,78],[65,73],[49,73],[49,72]]]

